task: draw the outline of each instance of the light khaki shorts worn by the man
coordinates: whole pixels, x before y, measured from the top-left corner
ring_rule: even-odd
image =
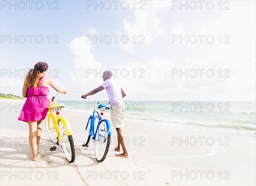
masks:
[[[125,110],[124,103],[114,104],[111,106],[111,110],[110,110],[111,121],[115,128],[122,128],[125,126],[123,121],[124,110]]]

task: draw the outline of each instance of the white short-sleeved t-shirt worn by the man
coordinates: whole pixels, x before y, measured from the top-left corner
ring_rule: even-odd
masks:
[[[118,103],[124,103],[124,100],[122,99],[121,87],[113,79],[106,79],[105,82],[102,83],[102,87],[107,90],[108,99],[111,106]]]

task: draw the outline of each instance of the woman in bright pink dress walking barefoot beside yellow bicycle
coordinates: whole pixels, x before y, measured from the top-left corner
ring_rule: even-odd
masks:
[[[48,65],[46,62],[38,62],[34,69],[29,70],[23,85],[22,94],[27,98],[20,112],[18,120],[29,124],[29,144],[32,150],[32,161],[38,160],[39,141],[41,138],[41,123],[47,115],[49,109],[49,88],[60,93],[66,90],[60,89],[47,74]]]

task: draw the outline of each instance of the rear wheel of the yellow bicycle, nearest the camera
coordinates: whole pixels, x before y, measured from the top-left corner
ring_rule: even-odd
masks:
[[[63,152],[67,158],[67,161],[69,161],[70,163],[73,163],[76,158],[73,137],[72,135],[67,135],[64,124],[62,123],[61,120],[58,121],[58,126],[59,126],[60,136],[61,136],[61,139],[59,141],[61,142],[61,147],[63,149]]]

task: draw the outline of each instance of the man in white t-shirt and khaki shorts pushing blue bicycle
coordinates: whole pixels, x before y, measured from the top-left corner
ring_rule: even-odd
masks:
[[[107,90],[109,103],[111,104],[111,121],[113,126],[116,128],[117,132],[117,147],[115,148],[116,151],[120,152],[120,145],[122,147],[123,153],[115,154],[117,157],[128,158],[128,153],[126,151],[124,145],[124,139],[122,136],[122,127],[124,127],[123,116],[125,110],[125,104],[123,101],[123,97],[125,97],[125,93],[122,88],[119,86],[117,82],[115,82],[112,77],[112,72],[110,70],[106,70],[103,72],[103,83],[98,88],[90,91],[87,94],[82,95],[83,99],[86,99],[87,96],[93,95],[102,91],[104,89]]]

